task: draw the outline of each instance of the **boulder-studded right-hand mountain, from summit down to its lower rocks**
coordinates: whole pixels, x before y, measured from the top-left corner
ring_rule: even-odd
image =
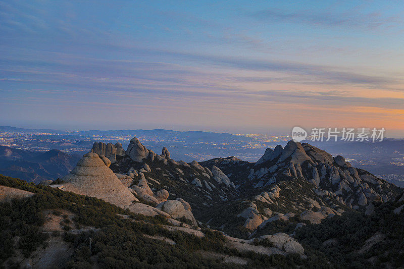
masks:
[[[285,228],[285,222],[320,223],[351,208],[365,210],[372,201],[394,199],[402,191],[352,168],[342,156],[293,141],[268,149],[255,164],[218,158],[201,165],[218,166],[240,192],[234,201],[212,206],[203,220],[238,236]]]

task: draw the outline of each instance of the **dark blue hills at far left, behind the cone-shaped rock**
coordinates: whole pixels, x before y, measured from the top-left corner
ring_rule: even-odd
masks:
[[[0,146],[0,159],[0,174],[39,183],[65,176],[74,168],[79,157],[57,149],[30,152]]]

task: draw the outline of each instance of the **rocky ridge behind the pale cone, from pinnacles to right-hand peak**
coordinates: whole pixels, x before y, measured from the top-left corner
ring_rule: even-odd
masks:
[[[99,153],[97,147],[92,151]],[[133,185],[145,179],[152,190],[166,189],[169,199],[180,195],[198,221],[241,238],[264,235],[277,225],[365,211],[373,201],[387,202],[402,191],[342,156],[293,141],[268,148],[256,163],[236,157],[177,162],[167,148],[158,155],[136,138],[125,153],[109,158],[111,169],[133,178]]]

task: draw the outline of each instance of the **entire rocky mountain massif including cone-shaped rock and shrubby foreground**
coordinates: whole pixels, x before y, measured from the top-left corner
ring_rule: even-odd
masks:
[[[58,185],[0,175],[2,266],[404,265],[402,189],[310,144],[256,163],[177,162],[137,138],[91,151]]]

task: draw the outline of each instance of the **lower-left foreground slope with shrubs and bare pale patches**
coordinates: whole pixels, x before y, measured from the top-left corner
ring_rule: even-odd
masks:
[[[2,175],[0,186],[31,193],[12,203],[0,197],[4,267],[312,268],[319,260],[327,264],[321,256],[287,254],[298,243],[283,235],[271,237],[272,245],[268,239],[240,242],[210,229],[195,233],[165,218],[141,216],[58,188]]]

